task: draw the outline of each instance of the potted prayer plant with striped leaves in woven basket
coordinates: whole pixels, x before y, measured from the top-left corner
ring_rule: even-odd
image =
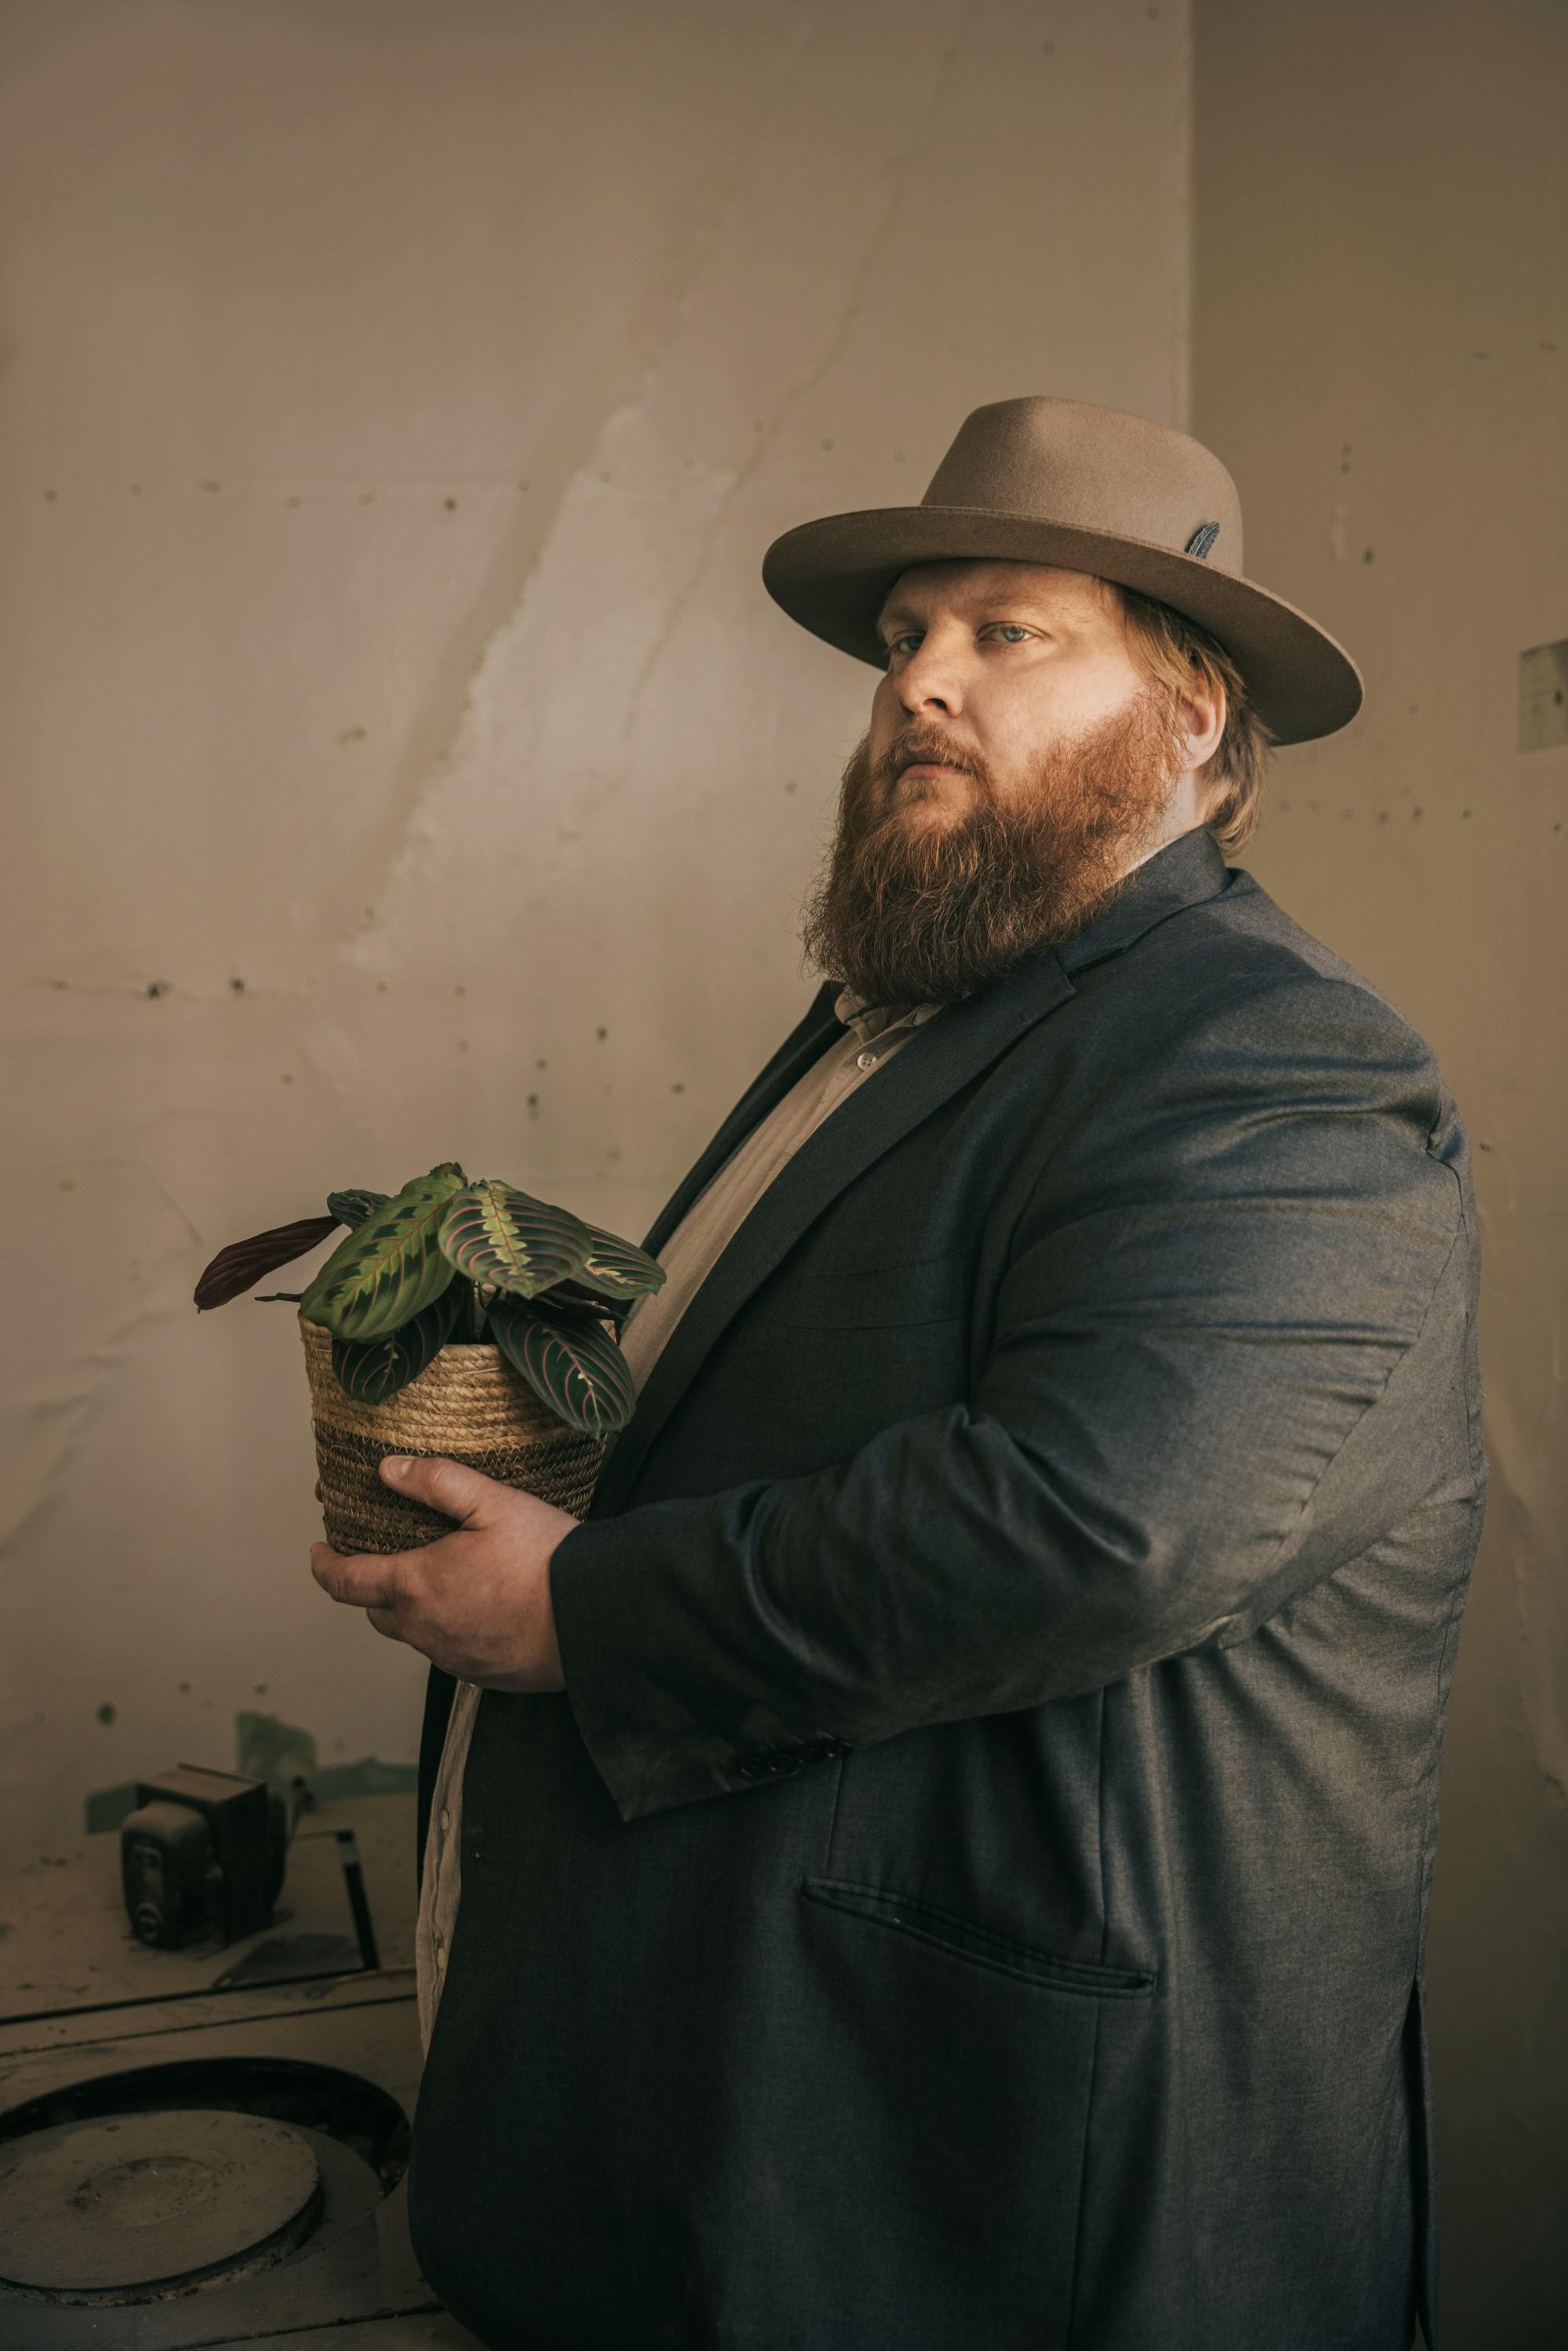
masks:
[[[299,1307],[327,1542],[407,1552],[451,1533],[378,1476],[388,1453],[442,1453],[583,1516],[637,1404],[616,1335],[663,1265],[444,1159],[402,1192],[329,1192],[327,1215],[230,1241],[195,1286],[197,1310],[341,1225],[308,1288],[268,1293]]]

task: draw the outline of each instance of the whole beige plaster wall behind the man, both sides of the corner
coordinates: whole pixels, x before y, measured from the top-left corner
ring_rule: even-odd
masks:
[[[242,1712],[411,1759],[418,1660],[308,1580],[292,1317],[197,1321],[195,1272],[454,1152],[646,1227],[811,985],[870,691],[762,548],[917,496],[980,400],[1185,421],[1187,31],[9,0],[0,38],[0,1827],[49,1838],[233,1763]],[[1199,0],[1192,423],[1368,672],[1246,863],[1479,1145],[1446,2351],[1549,2339],[1568,2191],[1568,752],[1514,750],[1516,656],[1568,635],[1566,38]]]

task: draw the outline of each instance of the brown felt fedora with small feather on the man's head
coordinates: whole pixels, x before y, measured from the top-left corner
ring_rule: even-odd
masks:
[[[886,668],[877,611],[907,564],[1011,557],[1140,588],[1232,656],[1279,743],[1361,708],[1342,644],[1241,576],[1241,498],[1187,433],[1084,400],[992,400],[959,426],[919,505],[872,505],[785,531],[762,557],[776,604]]]

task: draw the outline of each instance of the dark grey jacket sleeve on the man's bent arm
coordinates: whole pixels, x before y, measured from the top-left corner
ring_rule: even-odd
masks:
[[[567,1695],[621,1817],[1225,1646],[1375,1540],[1434,1476],[1422,1413],[1331,1472],[1462,1255],[1443,1105],[1366,990],[1213,1006],[1105,1150],[1041,1164],[969,1401],[567,1533]]]

